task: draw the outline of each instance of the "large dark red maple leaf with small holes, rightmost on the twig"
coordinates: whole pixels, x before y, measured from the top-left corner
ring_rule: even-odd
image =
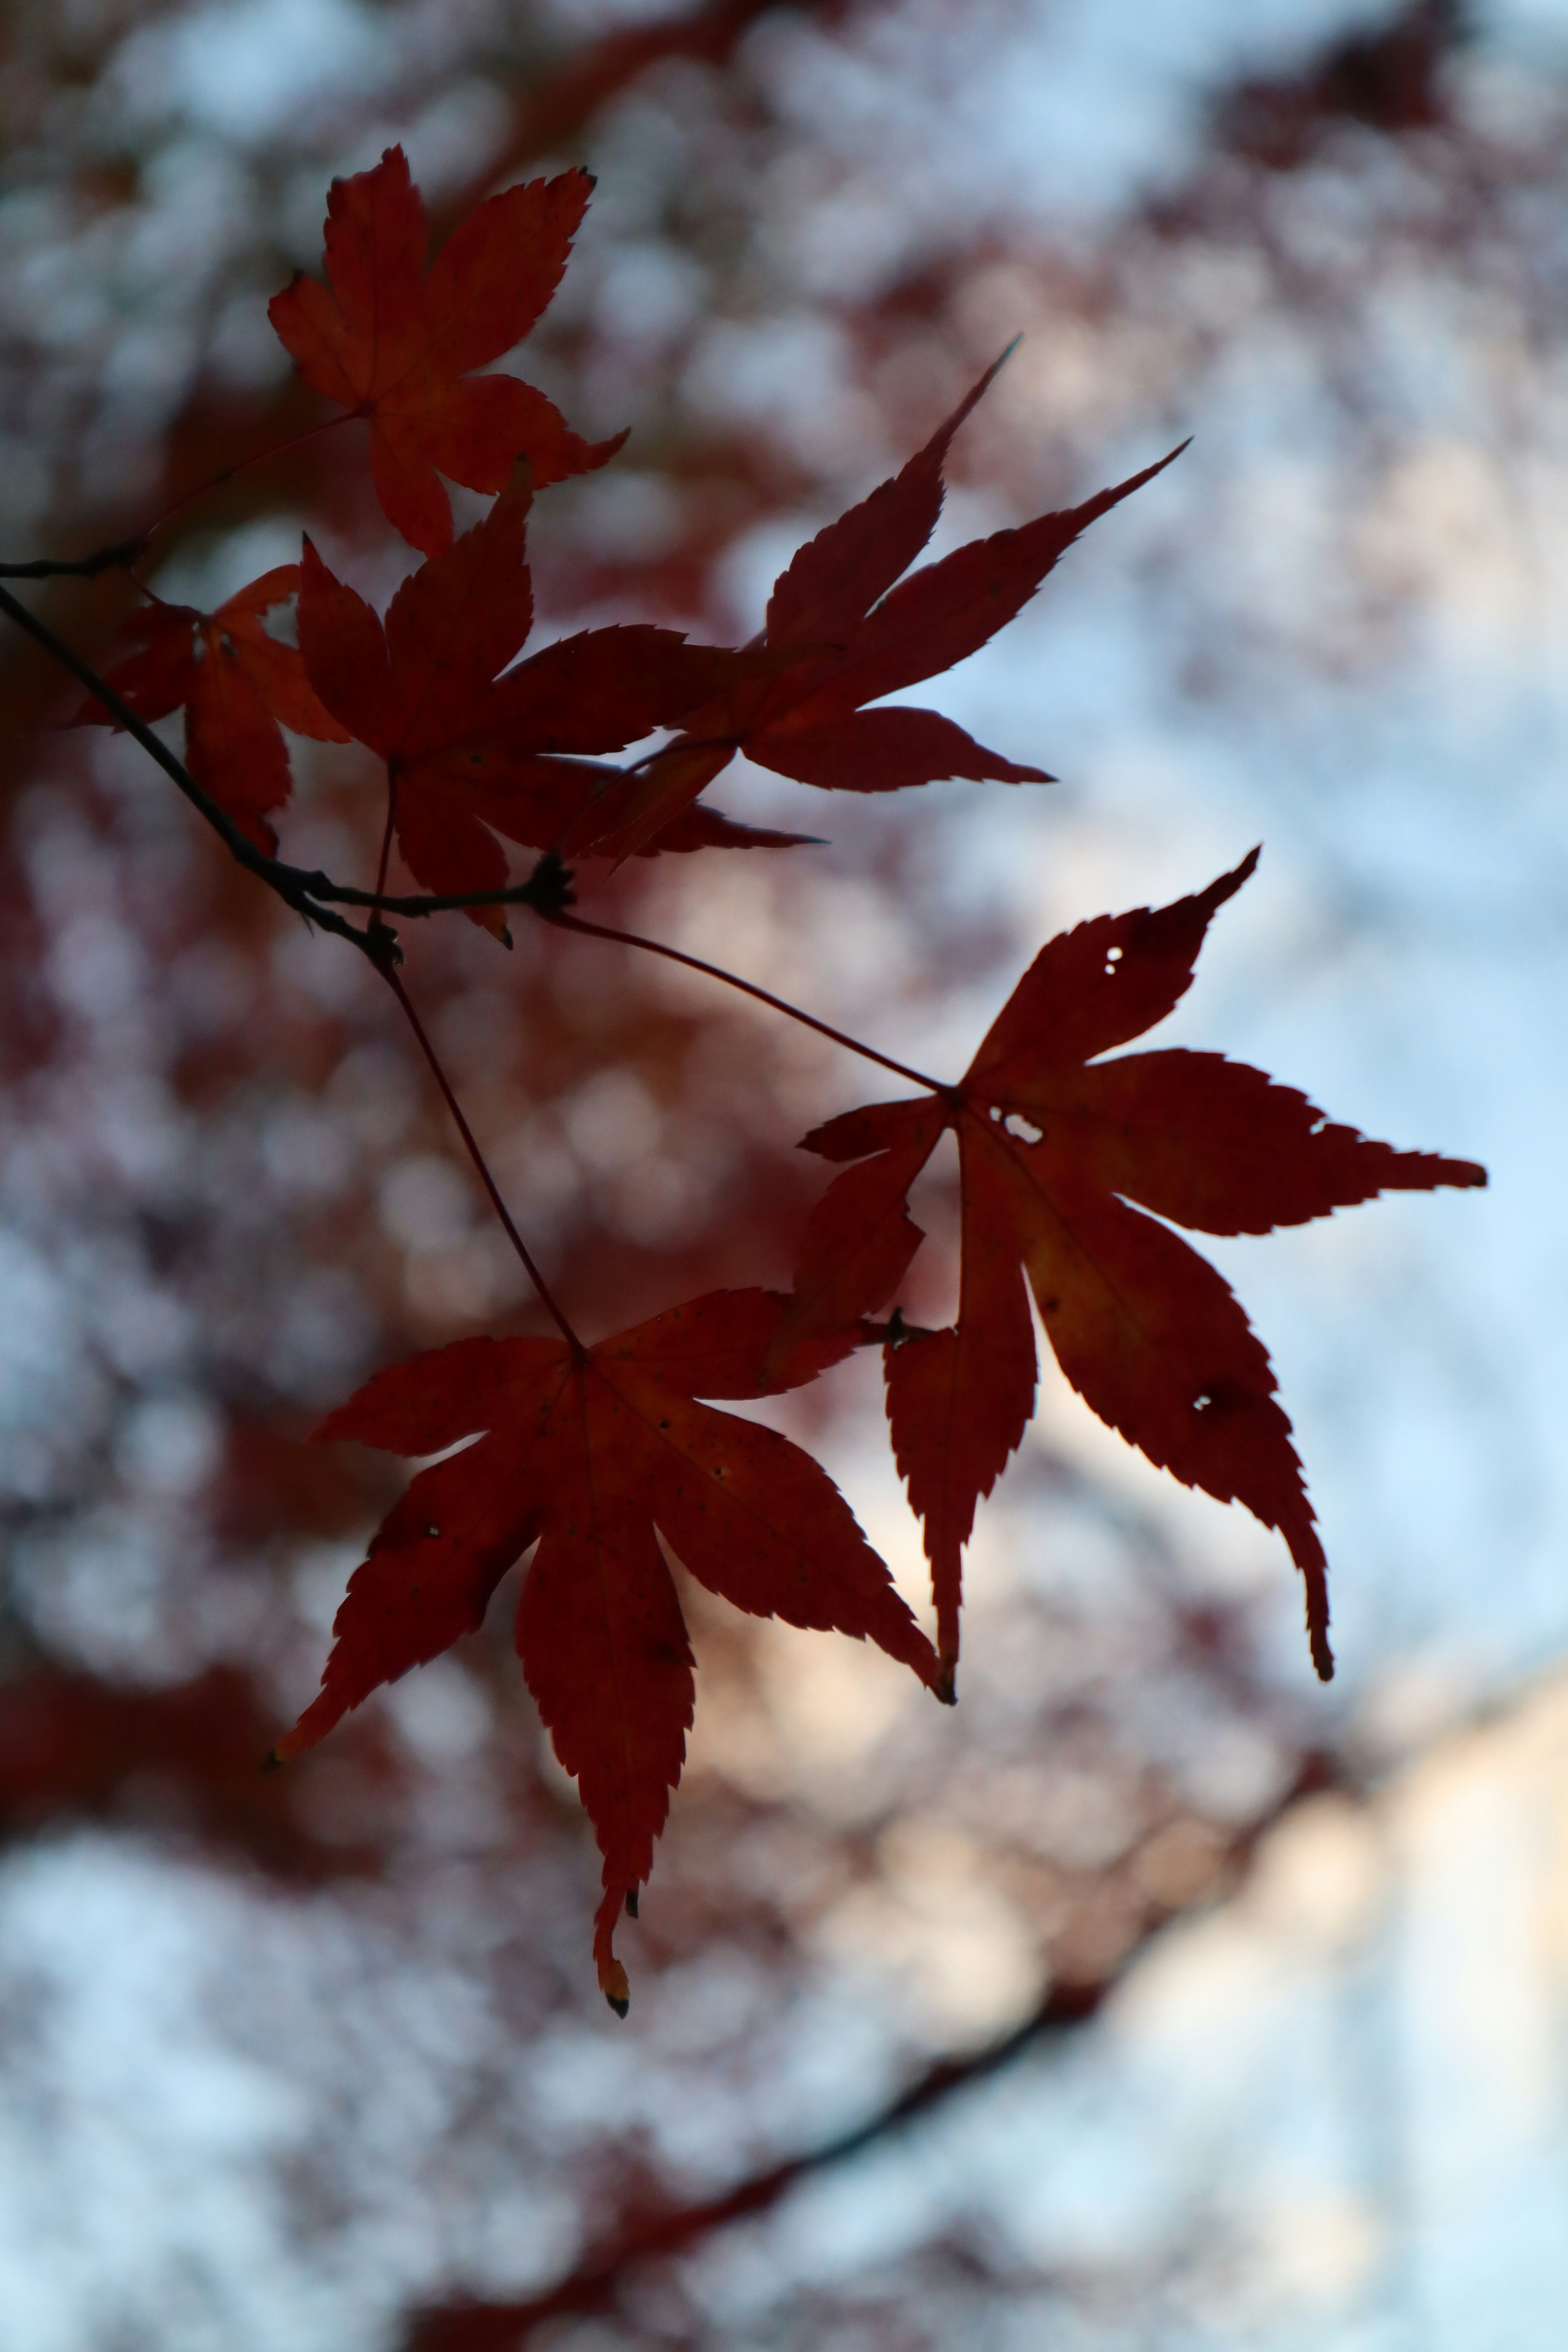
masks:
[[[1220,1054],[1095,1058],[1178,1004],[1215,908],[1255,863],[1253,849],[1197,896],[1063,931],[957,1087],[851,1110],[804,1138],[858,1164],[811,1216],[778,1362],[891,1296],[924,1240],[910,1183],[940,1134],[957,1134],[957,1324],[884,1350],[945,1663],[959,1651],[976,1503],[1034,1411],[1032,1291],[1058,1364],[1100,1421],[1185,1486],[1279,1529],[1305,1581],[1314,1665],[1333,1675],[1326,1559],[1269,1357],[1229,1287],[1168,1225],[1272,1232],[1375,1192],[1483,1185],[1486,1169],[1368,1143]]]

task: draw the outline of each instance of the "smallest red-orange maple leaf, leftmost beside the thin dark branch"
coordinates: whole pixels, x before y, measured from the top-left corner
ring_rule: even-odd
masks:
[[[162,720],[186,706],[186,767],[268,854],[277,849],[268,816],[289,797],[280,720],[317,743],[348,743],[348,731],[313,694],[299,652],[266,633],[263,614],[296,588],[299,564],[277,564],[216,612],[150,604],[129,623],[136,649],[103,673],[141,720]],[[96,694],[71,724],[120,731]]]

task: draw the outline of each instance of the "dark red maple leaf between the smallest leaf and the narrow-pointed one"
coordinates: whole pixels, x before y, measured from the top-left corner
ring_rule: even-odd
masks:
[[[583,755],[677,724],[738,659],[639,623],[559,637],[508,668],[534,626],[527,473],[520,468],[482,522],[402,583],[386,623],[306,541],[306,670],[322,703],[386,760],[397,847],[416,880],[442,896],[505,889],[498,833],[529,849],[557,847],[623,774]],[[799,835],[752,833],[717,809],[689,809],[668,847],[792,840]],[[470,917],[505,938],[501,908],[473,908]]]

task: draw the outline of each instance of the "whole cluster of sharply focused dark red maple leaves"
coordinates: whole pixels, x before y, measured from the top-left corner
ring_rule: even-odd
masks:
[[[503,840],[614,861],[804,840],[733,826],[701,800],[736,753],[825,790],[1048,781],[933,710],[867,708],[985,644],[1086,524],[1171,463],[910,572],[940,513],[952,435],[994,369],[898,475],[795,555],[750,647],[592,628],[520,659],[534,623],[534,489],[604,463],[618,442],[590,447],[541,393],[475,369],[550,299],[588,188],[567,172],[491,198],[425,270],[423,207],[400,151],[334,181],[329,287],[296,278],[270,318],[306,381],[367,419],[383,510],[425,562],[381,619],[306,541],[299,569],[268,572],[216,614],[153,607],[108,682],[143,717],[186,706],[197,781],[268,847],[266,818],[289,790],[280,722],[367,746],[386,762],[402,858],[437,896],[501,891]],[[456,543],[440,473],[496,492]],[[296,588],[299,652],[263,626]],[[630,767],[602,757],[661,731],[668,741]],[[444,1458],[414,1477],[350,1578],[322,1693],[280,1759],[477,1628],[501,1576],[531,1552],[517,1651],[599,1839],[595,1959],[623,2011],[611,1933],[651,1870],[693,1708],[665,1555],[738,1609],[877,1642],[950,1700],[961,1552],[1034,1409],[1030,1294],[1063,1371],[1110,1428],[1284,1534],[1328,1677],[1324,1550],[1267,1352],[1220,1275],[1168,1228],[1269,1232],[1382,1190],[1486,1176],[1331,1127],[1305,1096],[1218,1054],[1100,1058],[1178,1004],[1213,913],[1255,856],[1175,906],[1053,938],[957,1084],[905,1073],[926,1089],[914,1101],[806,1136],[846,1167],[809,1223],[790,1296],[719,1291],[595,1348],[564,1324],[559,1338],[461,1341],[381,1371],[331,1414],[324,1439]],[[473,917],[505,936],[498,906]],[[875,1331],[867,1317],[922,1242],[910,1185],[947,1129],[961,1167],[957,1324],[917,1331],[896,1312]],[[875,1336],[893,1451],[924,1522],[936,1646],[825,1472],[785,1437],[698,1402],[778,1395]]]

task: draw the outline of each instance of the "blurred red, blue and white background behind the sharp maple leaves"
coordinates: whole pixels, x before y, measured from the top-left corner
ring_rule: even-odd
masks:
[[[505,1592],[256,1771],[395,1489],[313,1418],[531,1308],[360,960],[0,644],[7,2343],[1561,2345],[1563,0],[12,0],[0,118],[7,560],[313,421],[266,299],[393,139],[442,228],[599,176],[524,372],[632,433],[536,508],[548,633],[750,635],[1018,332],[938,548],[1194,435],[912,696],[1063,783],[733,769],[731,814],[832,847],[590,870],[590,913],[957,1070],[1053,929],[1262,840],[1171,1037],[1493,1169],[1213,1247],[1333,1691],[1284,1548],[1048,1369],[957,1715],[689,1592],[616,2025]],[[376,597],[411,567],[343,433],[193,503],[153,583],[214,604],[301,524]],[[35,602],[94,654],[132,597]],[[284,854],[364,868],[355,755],[294,750]],[[430,927],[411,985],[583,1329],[788,1277],[846,1056],[522,927]],[[919,1599],[875,1362],[780,1425]]]

